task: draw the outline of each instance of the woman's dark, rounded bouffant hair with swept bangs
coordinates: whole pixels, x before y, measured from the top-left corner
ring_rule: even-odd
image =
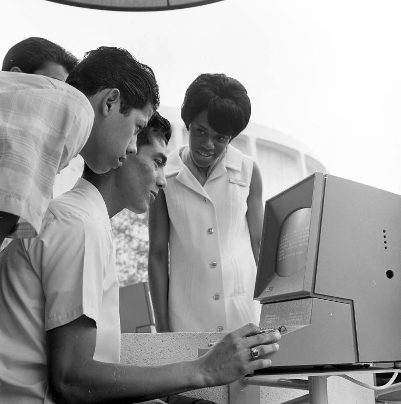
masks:
[[[196,116],[207,111],[209,125],[217,133],[235,137],[245,129],[251,116],[247,90],[225,74],[200,74],[188,87],[181,107],[187,129]]]

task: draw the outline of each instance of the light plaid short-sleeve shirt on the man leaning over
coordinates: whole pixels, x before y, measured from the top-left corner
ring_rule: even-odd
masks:
[[[87,97],[58,80],[0,72],[0,211],[20,217],[8,237],[34,237],[57,173],[93,125]]]

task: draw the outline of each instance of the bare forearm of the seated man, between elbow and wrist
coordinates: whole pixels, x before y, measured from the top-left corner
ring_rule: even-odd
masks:
[[[88,361],[51,384],[57,402],[132,403],[182,393],[205,386],[198,361],[140,367]]]

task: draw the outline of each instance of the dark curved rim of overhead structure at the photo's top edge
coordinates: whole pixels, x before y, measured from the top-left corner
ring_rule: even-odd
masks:
[[[68,6],[110,11],[163,11],[215,3],[222,0],[47,0]]]

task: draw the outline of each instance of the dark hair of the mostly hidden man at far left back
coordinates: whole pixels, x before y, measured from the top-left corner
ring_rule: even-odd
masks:
[[[61,65],[68,73],[78,64],[78,59],[61,46],[44,38],[31,37],[18,42],[8,50],[2,70],[10,72],[19,67],[24,73],[32,74],[47,62]]]

